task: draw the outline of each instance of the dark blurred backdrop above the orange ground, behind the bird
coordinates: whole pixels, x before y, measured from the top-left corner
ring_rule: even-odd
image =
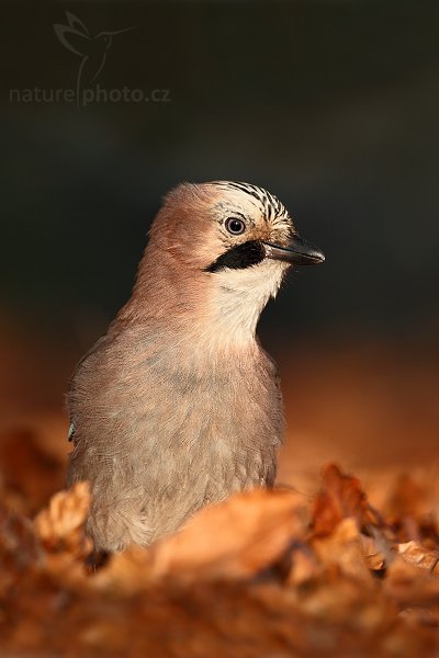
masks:
[[[47,394],[61,399],[183,180],[269,189],[325,251],[263,316],[278,359],[304,341],[365,341],[432,360],[437,2],[3,2],[1,16],[3,378],[47,378],[67,345]],[[101,95],[57,100],[81,65],[81,89]],[[44,359],[16,349],[26,367],[14,366],[13,340],[43,336]]]

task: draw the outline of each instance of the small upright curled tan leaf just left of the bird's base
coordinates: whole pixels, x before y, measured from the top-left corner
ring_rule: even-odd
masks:
[[[90,507],[88,483],[77,483],[68,491],[59,491],[48,508],[35,518],[35,531],[48,552],[67,552],[85,557],[91,542],[85,535],[85,524]]]

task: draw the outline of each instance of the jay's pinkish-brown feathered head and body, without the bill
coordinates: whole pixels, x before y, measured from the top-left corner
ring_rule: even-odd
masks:
[[[264,191],[241,185],[171,193],[131,299],[72,377],[68,480],[91,484],[97,548],[149,545],[207,502],[273,485],[283,410],[256,325],[288,265],[243,253],[286,245],[293,225],[275,197],[264,206]],[[239,214],[245,238],[225,229]],[[244,260],[221,264],[234,249]]]

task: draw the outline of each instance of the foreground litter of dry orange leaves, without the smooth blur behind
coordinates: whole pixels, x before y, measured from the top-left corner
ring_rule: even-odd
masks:
[[[49,486],[54,464],[29,435],[19,455]],[[314,496],[237,495],[95,567],[88,485],[34,515],[34,485],[12,466],[0,511],[2,656],[437,655],[439,519],[409,477],[376,510],[330,464]]]

